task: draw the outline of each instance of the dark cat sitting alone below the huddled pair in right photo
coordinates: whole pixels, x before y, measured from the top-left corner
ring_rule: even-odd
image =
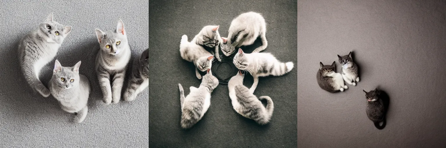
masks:
[[[375,127],[378,129],[383,129],[385,127],[385,113],[387,112],[386,100],[381,96],[381,92],[378,89],[372,90],[370,92],[365,92],[365,97],[367,99],[367,116],[368,119],[373,121]],[[383,125],[380,126],[380,123]]]

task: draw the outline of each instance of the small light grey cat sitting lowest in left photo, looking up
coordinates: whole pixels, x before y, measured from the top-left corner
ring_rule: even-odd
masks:
[[[62,110],[76,113],[74,121],[81,123],[87,116],[90,82],[79,74],[81,61],[73,67],[62,67],[58,60],[54,62],[53,77],[48,85],[51,94],[59,101]]]

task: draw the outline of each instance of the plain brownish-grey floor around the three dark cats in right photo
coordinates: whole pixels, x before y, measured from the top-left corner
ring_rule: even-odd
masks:
[[[299,147],[446,145],[444,0],[299,0],[297,10]],[[319,61],[350,51],[358,85],[335,94],[319,88]],[[376,87],[390,96],[383,130],[365,113],[362,89]]]

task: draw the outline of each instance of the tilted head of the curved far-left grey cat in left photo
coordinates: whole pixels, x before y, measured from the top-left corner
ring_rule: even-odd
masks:
[[[48,42],[62,44],[65,37],[71,32],[71,26],[64,26],[53,20],[53,13],[39,25],[38,32]]]

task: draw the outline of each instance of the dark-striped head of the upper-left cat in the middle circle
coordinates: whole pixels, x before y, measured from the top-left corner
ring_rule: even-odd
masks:
[[[220,39],[219,27],[220,25],[209,25],[203,27],[200,31],[200,35],[197,38],[197,42],[202,43],[203,45],[210,48],[214,48],[215,46],[217,46]]]

